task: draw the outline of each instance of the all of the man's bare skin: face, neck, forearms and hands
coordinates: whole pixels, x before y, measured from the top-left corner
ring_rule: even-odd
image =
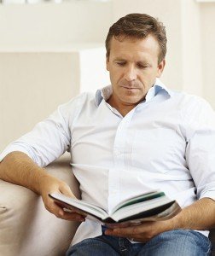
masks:
[[[118,109],[123,116],[145,98],[155,79],[160,77],[165,61],[158,63],[158,54],[158,44],[153,37],[141,40],[126,38],[121,42],[112,39],[107,69],[113,84],[113,95],[108,103]],[[64,212],[48,196],[52,192],[61,192],[74,197],[67,183],[49,175],[26,154],[21,152],[8,154],[0,163],[0,178],[20,184],[41,195],[46,209],[57,218],[84,221],[84,216],[78,214],[78,211]],[[185,207],[182,212],[169,220],[148,222],[127,228],[119,225],[106,230],[106,234],[145,242],[167,230],[207,230],[212,227],[215,227],[215,202],[203,198]]]

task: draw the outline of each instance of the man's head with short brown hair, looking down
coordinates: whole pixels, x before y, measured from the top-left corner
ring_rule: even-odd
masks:
[[[110,27],[106,49],[113,87],[108,102],[119,112],[129,112],[144,99],[163,72],[165,27],[149,15],[126,15]]]

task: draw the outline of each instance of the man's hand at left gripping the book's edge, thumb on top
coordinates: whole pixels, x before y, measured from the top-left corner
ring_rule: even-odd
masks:
[[[47,174],[44,175],[44,177],[41,177],[39,181],[39,194],[43,198],[44,207],[49,212],[55,214],[57,218],[81,222],[85,220],[84,216],[78,213],[78,210],[75,212],[65,212],[61,207],[55,204],[53,199],[49,197],[50,193],[61,193],[63,195],[76,198],[67,183]]]

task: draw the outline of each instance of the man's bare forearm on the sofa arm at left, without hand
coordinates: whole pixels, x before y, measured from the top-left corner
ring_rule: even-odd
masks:
[[[32,189],[37,194],[41,178],[49,176],[30,157],[19,151],[8,154],[0,163],[0,179]]]

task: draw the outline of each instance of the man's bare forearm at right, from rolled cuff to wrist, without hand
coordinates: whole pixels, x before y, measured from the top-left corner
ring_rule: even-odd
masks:
[[[215,227],[215,201],[202,198],[171,218],[172,230],[207,230]]]

